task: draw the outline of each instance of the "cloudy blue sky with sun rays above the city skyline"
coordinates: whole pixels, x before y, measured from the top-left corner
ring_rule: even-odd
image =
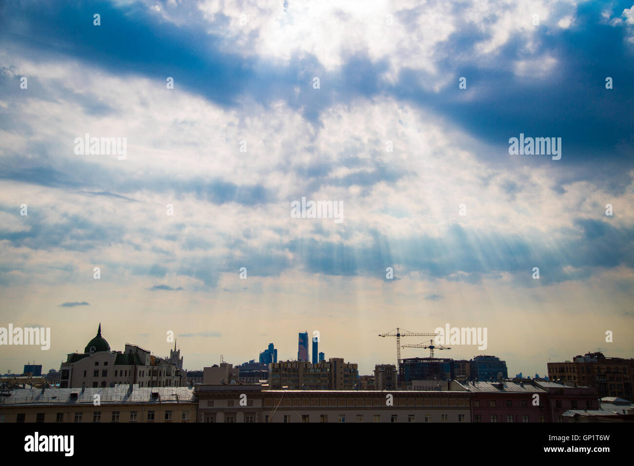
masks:
[[[189,370],[306,330],[369,374],[446,324],[511,376],[632,358],[633,74],[631,0],[2,3],[0,327],[51,344],[0,373],[100,323]]]

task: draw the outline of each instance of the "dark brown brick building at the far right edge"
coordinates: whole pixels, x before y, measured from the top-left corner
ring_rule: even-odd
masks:
[[[548,363],[548,379],[565,385],[595,387],[600,396],[632,399],[634,359],[606,358],[603,353],[574,356],[573,361]]]

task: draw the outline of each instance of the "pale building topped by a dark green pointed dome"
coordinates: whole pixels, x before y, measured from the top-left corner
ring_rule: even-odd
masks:
[[[182,366],[183,359],[178,361]],[[184,379],[181,380],[178,366],[165,358],[152,356],[146,349],[126,343],[124,353],[110,351],[110,345],[101,336],[101,324],[84,353],[68,354],[67,361],[61,363],[60,368],[61,388],[103,388],[119,384],[179,387],[183,385],[181,382]]]

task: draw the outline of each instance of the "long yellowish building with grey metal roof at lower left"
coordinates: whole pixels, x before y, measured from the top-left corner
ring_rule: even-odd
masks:
[[[130,384],[0,393],[0,422],[195,422],[197,408],[193,389],[186,387]]]

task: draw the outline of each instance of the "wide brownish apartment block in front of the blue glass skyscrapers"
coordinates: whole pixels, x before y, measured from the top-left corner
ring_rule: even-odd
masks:
[[[342,358],[317,364],[280,361],[269,364],[268,379],[271,389],[353,390],[359,382],[359,373],[356,364],[345,363]]]

